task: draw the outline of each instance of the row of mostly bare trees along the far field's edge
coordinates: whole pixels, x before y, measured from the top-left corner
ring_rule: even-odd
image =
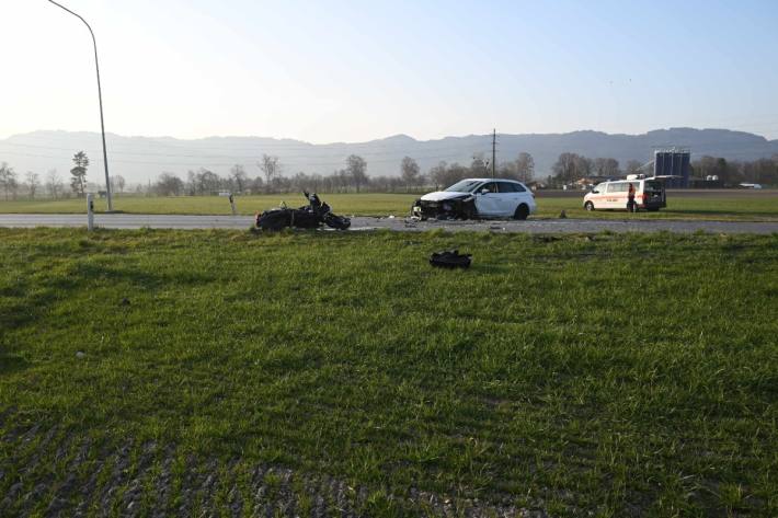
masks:
[[[15,199],[20,192],[35,198],[45,192],[53,198],[65,196],[83,196],[88,189],[99,191],[100,186],[87,182],[89,157],[79,151],[72,158],[73,168],[70,170],[69,187],[66,189],[65,180],[56,170],[50,170],[44,179],[37,173],[27,172],[20,181],[19,174],[8,163],[0,163],[0,189],[4,198]],[[423,174],[419,163],[411,157],[404,157],[400,162],[399,176],[369,176],[367,161],[352,154],[345,161],[344,168],[333,171],[329,175],[296,173],[284,175],[283,166],[277,157],[263,154],[256,163],[261,174],[250,176],[245,168],[236,164],[229,174],[224,177],[207,169],[188,171],[186,179],[169,172],[162,173],[148,194],[162,196],[207,195],[221,191],[233,193],[281,193],[296,192],[304,188],[324,193],[347,192],[414,192],[426,187],[442,188],[459,180],[472,176],[491,176],[492,168],[482,154],[473,157],[470,164],[439,162]],[[495,173],[499,177],[508,177],[531,183],[535,177],[535,161],[529,153],[519,153],[508,162],[496,165]],[[577,153],[561,153],[552,166],[549,184],[560,186],[571,184],[581,179],[590,177],[618,177],[632,174],[641,169],[640,162],[631,160],[622,169],[619,161],[613,158],[590,159]],[[723,158],[702,157],[693,162],[693,176],[717,176],[724,185],[736,185],[743,182],[778,185],[778,154],[771,159],[748,161],[728,161]],[[124,177],[111,177],[112,189],[123,193],[126,186]],[[141,192],[140,186],[137,187]]]

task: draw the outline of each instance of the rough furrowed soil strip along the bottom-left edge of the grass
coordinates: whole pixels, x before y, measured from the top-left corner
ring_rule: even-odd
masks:
[[[221,464],[215,458],[202,460],[194,456],[186,458],[185,468],[178,475],[173,446],[161,449],[153,442],[134,446],[127,441],[116,450],[103,447],[90,456],[90,439],[77,440],[72,433],[58,438],[61,431],[49,428],[35,442],[39,433],[41,427],[33,426],[5,434],[2,439],[10,437],[20,446],[18,456],[5,460],[4,465],[14,470],[14,480],[0,500],[2,516],[27,516],[38,509],[45,516],[240,517],[251,509],[248,514],[258,517],[355,518],[369,515],[375,504],[370,502],[371,490],[350,487],[329,475],[258,464],[241,476],[244,464],[240,459]],[[180,494],[174,500],[176,480]],[[241,492],[239,480],[244,481],[245,493]],[[390,495],[387,488],[384,494]],[[420,516],[546,516],[541,510],[517,509],[510,499],[490,503],[450,498],[415,488],[405,498],[389,496],[388,500],[387,505]]]

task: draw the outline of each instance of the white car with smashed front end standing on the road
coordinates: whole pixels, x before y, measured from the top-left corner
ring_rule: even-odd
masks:
[[[425,194],[411,211],[421,219],[527,219],[536,209],[535,195],[522,182],[466,179],[445,191]]]

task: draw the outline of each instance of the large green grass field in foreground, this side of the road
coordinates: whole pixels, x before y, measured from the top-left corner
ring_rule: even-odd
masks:
[[[455,245],[472,268],[426,264]],[[778,514],[776,235],[0,229],[0,257],[2,516]]]

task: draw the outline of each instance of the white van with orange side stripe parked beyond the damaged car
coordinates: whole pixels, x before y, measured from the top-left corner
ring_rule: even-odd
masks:
[[[603,182],[584,196],[584,208],[588,211],[604,209],[627,209],[629,184],[634,187],[633,210],[656,211],[667,206],[664,184],[659,180],[617,180]]]

